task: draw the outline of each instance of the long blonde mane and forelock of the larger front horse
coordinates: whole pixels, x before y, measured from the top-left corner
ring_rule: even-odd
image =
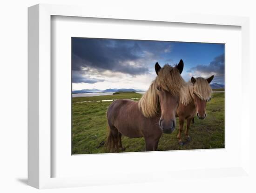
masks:
[[[138,103],[142,114],[146,117],[152,117],[159,111],[157,87],[171,92],[174,96],[179,96],[180,90],[185,84],[177,68],[168,64],[164,65]]]

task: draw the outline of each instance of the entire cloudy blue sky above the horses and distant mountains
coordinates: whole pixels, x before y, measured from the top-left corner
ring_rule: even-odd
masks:
[[[72,90],[147,90],[155,63],[184,62],[182,77],[215,75],[224,84],[224,45],[122,39],[72,38]]]

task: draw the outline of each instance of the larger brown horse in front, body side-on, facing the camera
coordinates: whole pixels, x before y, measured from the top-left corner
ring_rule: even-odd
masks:
[[[179,93],[185,84],[181,77],[183,61],[171,67],[162,68],[156,63],[158,75],[139,102],[120,99],[108,107],[107,118],[109,151],[124,149],[121,136],[130,138],[144,137],[146,151],[157,150],[162,133],[172,133],[175,129],[175,111],[179,103]]]

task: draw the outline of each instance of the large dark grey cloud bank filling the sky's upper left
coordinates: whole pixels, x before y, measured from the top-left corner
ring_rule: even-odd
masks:
[[[73,39],[73,71],[96,69],[115,71],[130,75],[148,73],[147,62],[160,58],[160,53],[169,52],[170,43],[114,40]]]

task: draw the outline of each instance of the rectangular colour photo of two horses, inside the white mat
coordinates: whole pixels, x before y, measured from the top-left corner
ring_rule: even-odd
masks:
[[[225,148],[224,44],[71,41],[72,154]]]

